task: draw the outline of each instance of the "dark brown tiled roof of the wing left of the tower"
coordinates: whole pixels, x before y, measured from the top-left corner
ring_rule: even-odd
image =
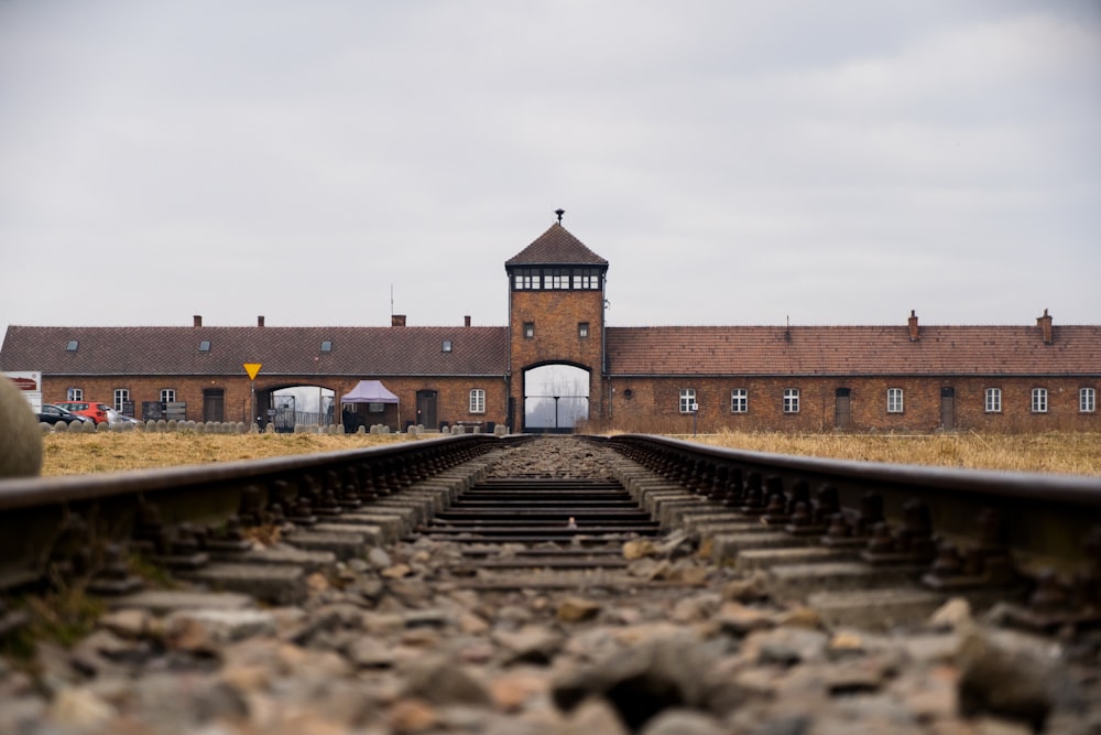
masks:
[[[445,339],[451,352],[443,350]],[[46,375],[499,376],[506,327],[69,327],[9,326],[0,370]],[[78,343],[67,352],[70,341]],[[199,352],[208,341],[209,352]],[[331,352],[321,352],[331,342]]]

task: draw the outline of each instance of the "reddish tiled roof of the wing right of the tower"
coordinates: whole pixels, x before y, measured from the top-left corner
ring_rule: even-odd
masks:
[[[1101,375],[1101,326],[609,327],[613,376]]]

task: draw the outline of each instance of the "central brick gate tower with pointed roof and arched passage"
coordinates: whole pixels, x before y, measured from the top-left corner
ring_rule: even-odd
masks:
[[[566,231],[560,213],[556,224],[504,263],[509,275],[509,423],[520,431],[562,431],[580,420],[603,417],[599,397],[606,372],[608,261]],[[566,406],[564,396],[573,397]],[[544,414],[554,403],[559,411],[557,426],[553,421],[548,426]],[[566,408],[568,426],[562,413]]]

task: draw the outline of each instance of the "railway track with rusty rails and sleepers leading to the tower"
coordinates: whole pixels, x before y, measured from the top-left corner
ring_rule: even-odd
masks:
[[[310,609],[319,590],[341,585],[362,587],[357,604],[372,607],[385,598],[381,579],[396,599],[419,590],[491,609],[546,605],[559,624],[623,604],[666,605],[687,619],[691,599],[739,636],[756,623],[733,621],[709,597],[721,590],[726,599],[731,585],[739,604],[804,606],[811,625],[875,635],[920,627],[966,599],[1015,629],[1089,641],[1101,623],[1099,529],[1098,478],[866,465],[652,436],[462,435],[0,482],[0,637],[33,627],[19,601],[50,586],[86,587],[110,610],[171,616]],[[405,563],[378,561],[388,554]],[[140,579],[137,558],[173,577],[172,588]],[[372,583],[350,582],[357,570]],[[739,609],[759,619],[756,608]],[[566,689],[554,699],[569,711]],[[685,702],[665,704],[676,703]],[[617,702],[632,727],[662,709],[635,706]],[[1034,710],[988,709],[1036,723]]]

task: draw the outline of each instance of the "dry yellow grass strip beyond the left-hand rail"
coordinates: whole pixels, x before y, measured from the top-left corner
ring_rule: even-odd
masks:
[[[87,475],[152,467],[262,460],[412,441],[407,434],[199,434],[127,432],[46,434],[43,475]]]

